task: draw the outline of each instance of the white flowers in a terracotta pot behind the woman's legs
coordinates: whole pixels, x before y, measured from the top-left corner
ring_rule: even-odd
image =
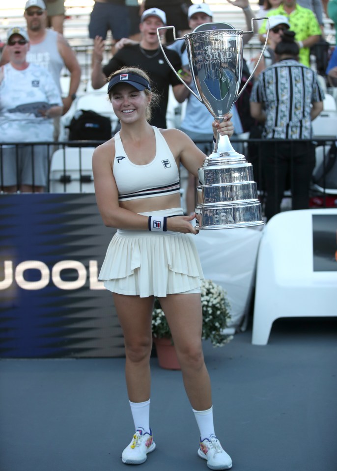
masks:
[[[232,336],[224,334],[223,330],[227,327],[230,319],[229,302],[226,298],[226,292],[222,286],[215,284],[210,279],[201,281],[201,306],[202,306],[202,339],[210,339],[214,347],[222,347],[231,340]],[[160,358],[160,346],[158,339],[163,339],[165,350],[173,346],[171,332],[167,323],[165,314],[158,298],[155,299],[152,313],[152,335],[156,344],[159,364],[164,368],[180,369],[177,360],[173,361],[172,366],[164,366],[164,360]],[[174,350],[174,347],[171,348]]]

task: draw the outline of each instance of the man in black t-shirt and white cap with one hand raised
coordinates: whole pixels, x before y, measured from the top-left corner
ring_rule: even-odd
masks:
[[[169,85],[175,98],[183,100],[188,90],[175,76],[169,67],[158,42],[157,28],[166,25],[166,15],[159,8],[145,10],[140,18],[140,44],[127,45],[118,51],[110,62],[102,68],[104,41],[96,36],[93,51],[93,67],[91,84],[93,88],[101,88],[107,83],[107,78],[123,66],[137,66],[147,72],[151,81],[160,94],[159,106],[153,110],[150,124],[159,128],[166,128],[166,111],[169,100]],[[175,51],[165,48],[165,53],[175,70],[181,69],[179,55]]]

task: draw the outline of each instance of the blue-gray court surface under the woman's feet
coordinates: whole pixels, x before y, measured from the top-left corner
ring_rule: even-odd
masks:
[[[204,343],[218,437],[235,471],[336,471],[337,319],[276,321]],[[156,450],[141,470],[207,470],[179,371],[152,364]],[[124,359],[0,361],[1,471],[118,471],[133,422]]]

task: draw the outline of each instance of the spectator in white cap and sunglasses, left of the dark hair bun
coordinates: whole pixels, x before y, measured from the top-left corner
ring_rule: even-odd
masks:
[[[262,70],[270,65],[275,64],[276,62],[276,55],[275,55],[275,48],[276,45],[281,41],[283,31],[290,28],[290,24],[288,18],[282,15],[275,15],[269,18],[269,36],[268,36],[268,43],[267,47],[262,55],[260,63],[255,70],[254,77],[257,77]],[[253,67],[258,62],[260,58],[260,54],[255,57],[253,61]]]

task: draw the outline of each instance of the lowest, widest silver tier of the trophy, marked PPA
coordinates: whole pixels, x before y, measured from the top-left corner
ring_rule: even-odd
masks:
[[[233,229],[264,224],[262,206],[258,200],[198,204],[196,219],[197,230]]]

